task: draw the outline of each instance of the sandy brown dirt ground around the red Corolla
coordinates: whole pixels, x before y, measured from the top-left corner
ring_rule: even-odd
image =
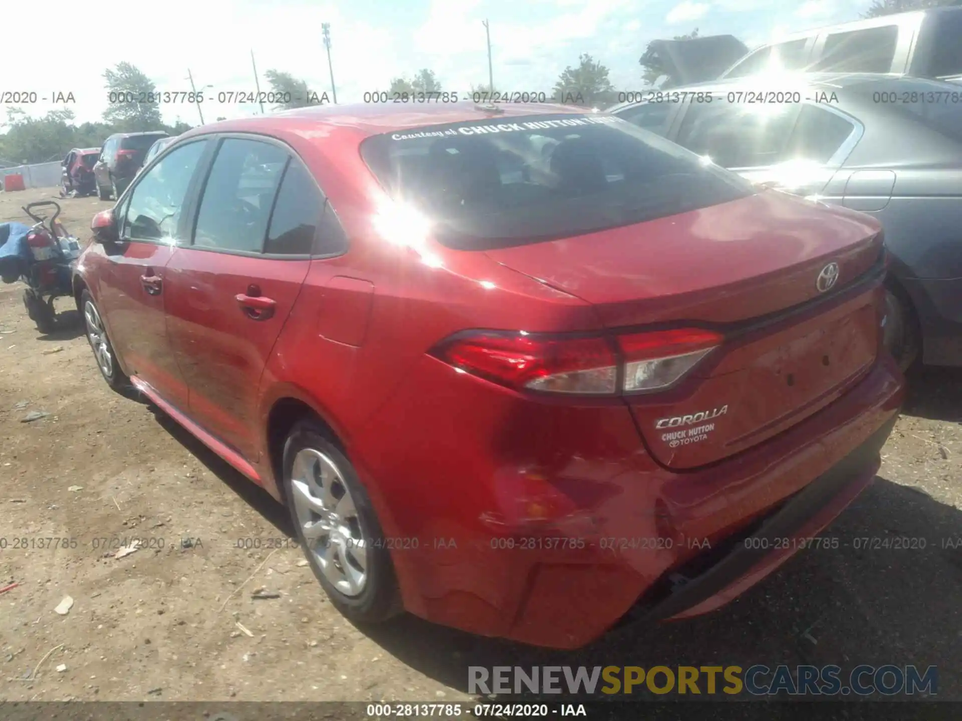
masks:
[[[0,222],[54,192],[0,193]],[[110,205],[62,204],[82,237]],[[408,616],[343,620],[299,564],[285,511],[112,392],[76,311],[39,336],[21,293],[0,286],[0,588],[18,584],[0,594],[0,700],[457,701],[468,665],[712,662],[935,664],[939,696],[962,700],[962,372],[911,379],[878,478],[823,534],[839,548],[798,554],[714,614],[557,653]],[[35,410],[48,415],[24,422]],[[924,548],[852,546],[896,536]],[[115,559],[131,537],[147,545]],[[262,586],[278,597],[253,599]]]

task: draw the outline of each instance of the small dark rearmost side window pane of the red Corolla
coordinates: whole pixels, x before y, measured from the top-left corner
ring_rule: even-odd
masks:
[[[314,247],[317,224],[324,212],[324,198],[300,162],[291,160],[277,194],[267,229],[265,253],[309,254]]]

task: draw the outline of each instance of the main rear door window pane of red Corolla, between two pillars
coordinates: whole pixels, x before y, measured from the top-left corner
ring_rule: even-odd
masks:
[[[260,253],[287,161],[277,145],[226,138],[204,186],[193,244]]]

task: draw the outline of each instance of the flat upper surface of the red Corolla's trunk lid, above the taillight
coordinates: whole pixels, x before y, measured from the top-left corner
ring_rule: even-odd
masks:
[[[485,251],[501,263],[595,306],[608,328],[700,320],[732,323],[784,311],[878,260],[868,215],[768,190],[646,223]],[[833,288],[833,289],[834,289]]]

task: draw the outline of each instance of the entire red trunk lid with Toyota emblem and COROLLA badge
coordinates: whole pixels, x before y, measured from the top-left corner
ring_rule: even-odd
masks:
[[[679,385],[625,397],[653,457],[687,469],[780,433],[873,364],[881,291],[845,288],[878,263],[879,230],[861,213],[766,191],[487,253],[591,303],[610,329],[671,323],[724,331],[722,346]],[[838,272],[826,287],[832,263]]]

